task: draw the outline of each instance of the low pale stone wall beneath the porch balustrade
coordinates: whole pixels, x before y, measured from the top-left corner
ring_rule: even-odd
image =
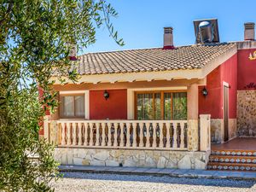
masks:
[[[206,169],[209,152],[55,148],[62,165]]]

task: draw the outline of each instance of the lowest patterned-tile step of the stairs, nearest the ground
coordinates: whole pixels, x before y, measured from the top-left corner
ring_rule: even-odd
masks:
[[[250,171],[256,172],[255,164],[248,163],[220,163],[220,162],[209,162],[207,165],[209,170],[228,170],[228,171]]]

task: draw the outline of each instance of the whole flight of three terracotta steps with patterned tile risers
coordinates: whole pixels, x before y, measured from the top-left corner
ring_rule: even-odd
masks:
[[[256,172],[256,150],[213,148],[207,169]]]

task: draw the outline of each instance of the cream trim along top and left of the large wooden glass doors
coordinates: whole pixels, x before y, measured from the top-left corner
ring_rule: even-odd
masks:
[[[188,87],[155,87],[155,88],[137,88],[137,89],[127,89],[127,119],[134,119],[134,92],[141,90],[188,90]]]

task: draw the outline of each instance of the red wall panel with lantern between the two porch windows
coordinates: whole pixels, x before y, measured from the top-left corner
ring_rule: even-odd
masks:
[[[127,90],[90,90],[90,119],[127,119]]]

